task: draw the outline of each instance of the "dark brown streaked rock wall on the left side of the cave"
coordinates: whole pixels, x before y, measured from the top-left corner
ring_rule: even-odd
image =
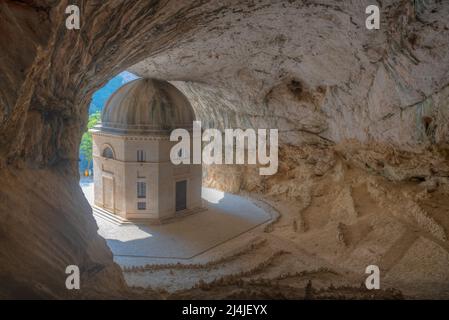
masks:
[[[87,108],[115,74],[182,38],[200,3],[70,1],[79,31],[65,27],[68,4],[0,3],[2,297],[130,295],[78,185]],[[72,264],[79,291],[65,288]]]

